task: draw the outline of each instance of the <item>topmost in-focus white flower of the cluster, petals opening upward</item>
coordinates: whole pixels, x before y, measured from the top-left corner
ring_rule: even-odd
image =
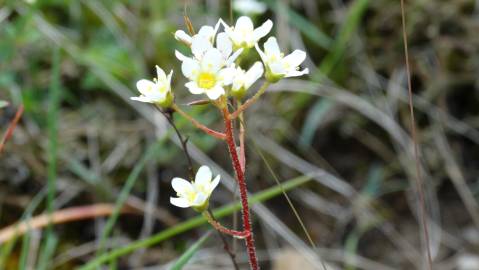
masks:
[[[233,41],[233,45],[236,48],[252,48],[262,37],[266,36],[273,27],[273,22],[267,20],[263,25],[254,29],[253,22],[247,16],[239,17],[234,27],[228,26],[223,21],[221,22],[224,24],[225,32],[231,41]]]

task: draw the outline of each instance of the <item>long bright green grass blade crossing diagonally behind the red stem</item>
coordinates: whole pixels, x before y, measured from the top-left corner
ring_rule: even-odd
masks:
[[[283,184],[283,188],[285,191],[293,189],[297,186],[300,186],[302,184],[305,184],[311,180],[311,177],[309,176],[301,176],[297,177],[294,179],[291,179],[287,181],[286,183]],[[281,194],[281,188],[278,186],[274,186],[271,188],[268,188],[266,190],[263,190],[253,196],[250,197],[250,204],[255,204],[258,202],[263,202],[266,200],[269,200],[273,197],[278,196]],[[241,209],[241,204],[240,202],[236,202],[233,204],[229,204],[226,206],[223,206],[219,209],[216,209],[213,211],[213,214],[215,215],[216,218],[221,218],[227,215],[230,215],[238,210]],[[177,224],[174,227],[171,227],[169,229],[166,229],[158,234],[155,234],[147,239],[139,240],[133,243],[130,243],[124,247],[114,249],[108,253],[105,253],[99,257],[96,257],[86,265],[82,266],[79,270],[89,270],[89,269],[96,269],[98,266],[102,265],[105,262],[108,262],[112,259],[121,257],[123,255],[126,255],[128,253],[131,253],[137,249],[140,248],[145,248],[149,247],[155,244],[158,244],[164,240],[167,240],[175,235],[178,235],[180,233],[186,232],[188,230],[191,230],[193,228],[196,228],[200,225],[205,224],[207,221],[206,219],[199,215],[194,218],[191,218],[187,221],[184,221],[182,223]]]

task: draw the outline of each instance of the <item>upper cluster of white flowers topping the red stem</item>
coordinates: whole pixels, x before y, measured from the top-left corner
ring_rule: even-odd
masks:
[[[220,27],[224,31],[218,33]],[[234,26],[220,19],[214,27],[203,26],[194,35],[188,35],[183,30],[176,31],[175,38],[191,50],[189,56],[175,52],[181,61],[181,71],[189,80],[185,87],[194,95],[206,94],[210,100],[217,100],[221,96],[241,98],[263,74],[270,82],[307,74],[308,69],[299,70],[299,65],[306,58],[305,52],[295,50],[284,56],[274,37],[264,43],[264,51],[260,49],[258,42],[269,34],[272,27],[273,22],[267,20],[255,28],[249,17],[242,16]],[[257,61],[251,68],[244,70],[239,65],[239,58],[253,47],[262,63]],[[141,95],[132,99],[168,107],[173,102],[170,86],[172,73],[166,76],[161,68],[156,68],[158,77],[153,81],[138,81],[137,88]]]

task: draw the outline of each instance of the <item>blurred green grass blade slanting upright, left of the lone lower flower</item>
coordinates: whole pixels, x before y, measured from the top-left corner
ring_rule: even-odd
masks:
[[[135,165],[135,167],[133,168],[133,171],[128,176],[126,183],[120,192],[120,196],[118,196],[118,199],[115,202],[115,209],[113,210],[113,213],[111,214],[110,218],[106,222],[105,228],[103,228],[103,231],[99,240],[99,248],[98,248],[97,256],[99,256],[101,253],[104,252],[105,241],[110,235],[113,229],[113,226],[115,226],[115,223],[118,219],[118,215],[120,214],[120,210],[123,208],[126,200],[128,199],[128,196],[130,195],[130,192],[133,186],[135,185],[136,180],[140,176],[140,173],[145,167],[146,162],[149,161],[155,155],[155,153],[158,152],[160,145],[161,145],[161,142],[155,142],[152,145],[150,145],[148,150],[145,152],[143,157]]]

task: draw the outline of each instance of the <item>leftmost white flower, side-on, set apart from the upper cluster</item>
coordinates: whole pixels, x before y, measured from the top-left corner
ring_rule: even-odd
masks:
[[[153,81],[142,79],[136,83],[136,88],[141,95],[138,97],[131,97],[132,100],[154,103],[163,107],[168,107],[173,101],[173,94],[171,93],[171,76],[173,71],[166,76],[165,72],[156,66],[157,78]]]

